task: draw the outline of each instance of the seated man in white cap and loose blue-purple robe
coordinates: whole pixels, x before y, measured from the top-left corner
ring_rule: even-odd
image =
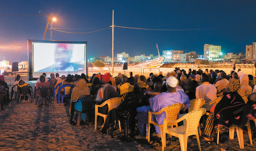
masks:
[[[176,86],[179,84],[179,80],[176,79],[173,76],[168,77],[167,81],[167,89],[168,92],[162,92],[161,94],[149,98],[150,106],[142,106],[137,108],[137,116],[135,119],[138,120],[139,123],[139,133],[141,135],[135,136],[137,139],[146,139],[147,131],[146,131],[146,125],[148,122],[148,111],[150,112],[158,112],[162,108],[165,108],[166,106],[179,103],[184,104],[186,110],[190,107],[190,100],[186,93],[182,91],[176,92]],[[165,113],[161,113],[158,116],[153,117],[158,121],[159,125],[163,124],[163,119],[166,118]],[[156,133],[161,134],[160,128],[158,126],[155,126]]]

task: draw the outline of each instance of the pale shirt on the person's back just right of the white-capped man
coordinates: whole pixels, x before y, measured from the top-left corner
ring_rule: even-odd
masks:
[[[203,98],[205,100],[205,103],[209,103],[215,98],[217,98],[216,93],[217,93],[217,90],[214,87],[214,85],[208,82],[204,82],[202,85],[199,85],[198,87],[196,87],[196,98]],[[203,105],[203,108],[206,108],[206,110],[209,111],[212,105],[207,105],[207,106]]]

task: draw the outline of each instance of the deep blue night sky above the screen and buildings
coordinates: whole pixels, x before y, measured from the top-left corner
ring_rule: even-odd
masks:
[[[255,0],[215,1],[97,1],[97,0],[0,0],[0,15],[50,14],[57,18],[53,28],[66,32],[92,32],[114,24],[146,29],[115,28],[114,55],[157,55],[163,50],[196,51],[203,54],[203,45],[221,45],[223,53],[240,53],[245,45],[256,42]],[[42,39],[47,16],[0,16],[0,60],[27,60],[27,39]],[[48,29],[50,25],[48,26]],[[178,29],[178,30],[176,30]],[[181,30],[180,30],[181,29]],[[198,30],[184,30],[198,29]],[[50,30],[46,33],[50,39]],[[53,30],[53,40],[87,41],[88,58],[112,56],[110,28],[87,34]]]

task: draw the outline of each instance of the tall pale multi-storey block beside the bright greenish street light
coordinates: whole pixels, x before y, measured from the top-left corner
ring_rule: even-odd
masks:
[[[214,61],[222,57],[221,46],[204,44],[204,59]]]

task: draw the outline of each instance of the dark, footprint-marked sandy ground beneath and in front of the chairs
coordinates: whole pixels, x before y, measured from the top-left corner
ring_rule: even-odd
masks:
[[[27,77],[22,77],[27,80]],[[14,77],[6,77],[5,81],[14,80]],[[28,81],[34,85],[35,81]],[[9,83],[8,83],[9,84]],[[37,107],[34,103],[22,102],[17,104],[11,101],[11,105],[5,105],[0,112],[0,151],[143,151],[161,150],[161,139],[156,136],[147,140],[136,140],[135,134],[129,135],[126,140],[123,131],[115,130],[114,138],[108,134],[102,134],[94,130],[92,122],[84,122],[80,127],[69,124],[69,104],[60,105],[55,101],[50,106]],[[254,125],[253,125],[254,126]],[[99,125],[98,125],[99,129]],[[247,129],[244,129],[247,131]],[[203,133],[203,127],[201,128]],[[203,140],[200,136],[202,151],[255,151],[256,135],[252,134],[253,145],[249,144],[248,134],[244,132],[245,149],[240,149],[237,136],[230,140],[228,131],[220,134],[220,143]],[[138,133],[138,129],[136,129]],[[130,132],[129,132],[130,133]],[[180,151],[179,139],[172,137],[167,139],[165,151]],[[195,136],[188,139],[188,151],[198,151]]]

